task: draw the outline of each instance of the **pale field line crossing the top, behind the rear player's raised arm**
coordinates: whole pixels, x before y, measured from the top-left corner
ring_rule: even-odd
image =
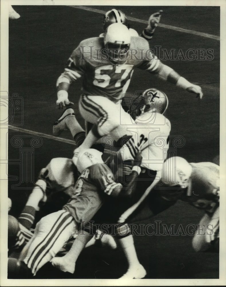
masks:
[[[96,13],[100,13],[100,14],[105,14],[107,12],[107,11],[104,11],[104,10],[99,10],[99,9],[86,7],[86,6],[73,6],[73,5],[68,5],[68,6],[70,6],[72,8],[87,10],[87,11],[96,12]],[[137,19],[137,18],[134,18],[134,17],[130,17],[130,16],[127,16],[127,15],[126,15],[126,18],[128,20],[130,20],[130,21],[133,21],[133,22],[148,24],[148,21]],[[180,27],[176,27],[176,26],[171,26],[171,25],[166,25],[166,24],[161,24],[161,23],[158,24],[158,27],[165,28],[165,29],[170,29],[170,30],[174,30],[174,31],[182,32],[182,33],[193,34],[193,35],[201,36],[201,37],[205,37],[205,38],[211,38],[211,39],[220,41],[220,37],[219,36],[211,35],[211,34],[207,34],[207,33],[203,33],[203,32],[188,30],[188,29],[184,29],[184,28],[180,28]]]

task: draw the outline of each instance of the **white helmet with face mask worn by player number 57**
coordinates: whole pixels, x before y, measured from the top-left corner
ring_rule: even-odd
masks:
[[[127,61],[130,46],[129,29],[120,23],[108,26],[104,35],[104,46],[112,64],[124,64]]]

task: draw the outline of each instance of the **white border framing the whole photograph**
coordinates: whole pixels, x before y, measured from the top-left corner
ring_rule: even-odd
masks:
[[[150,5],[151,4],[151,5]],[[220,269],[219,279],[136,279],[126,280],[87,280],[87,279],[7,279],[7,174],[5,164],[0,166],[1,180],[1,209],[0,209],[0,286],[224,286],[226,285],[226,1],[223,0],[142,0],[142,1],[91,1],[91,0],[1,0],[1,83],[0,91],[8,91],[8,5],[124,5],[124,6],[221,6],[221,57],[220,57]],[[207,23],[208,25],[208,23]],[[198,30],[198,29],[197,29]],[[4,116],[5,118],[6,116]],[[7,143],[5,142],[7,128],[1,128],[0,133],[0,158],[5,160]]]

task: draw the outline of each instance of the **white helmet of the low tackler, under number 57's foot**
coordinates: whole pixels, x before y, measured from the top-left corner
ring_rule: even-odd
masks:
[[[96,163],[103,163],[102,154],[102,152],[99,152],[99,150],[95,150],[94,148],[89,148],[80,152],[76,163],[78,171],[82,173],[84,169]]]

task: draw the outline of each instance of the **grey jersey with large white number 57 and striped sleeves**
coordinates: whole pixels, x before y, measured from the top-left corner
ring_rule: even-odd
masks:
[[[59,77],[71,83],[83,77],[82,90],[87,95],[105,96],[118,102],[126,92],[135,67],[157,73],[160,60],[152,54],[148,41],[131,37],[127,61],[113,65],[104,46],[103,37],[83,40],[72,52],[64,73]]]

